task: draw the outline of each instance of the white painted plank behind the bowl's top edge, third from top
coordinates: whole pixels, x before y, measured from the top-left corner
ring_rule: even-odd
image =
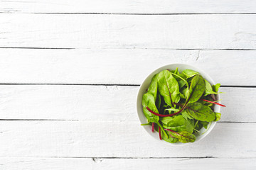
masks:
[[[0,34],[1,36],[1,34]],[[192,64],[222,85],[255,86],[256,51],[0,49],[0,82],[141,84],[165,64]]]

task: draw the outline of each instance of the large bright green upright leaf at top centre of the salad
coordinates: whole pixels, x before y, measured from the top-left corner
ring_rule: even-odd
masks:
[[[174,102],[180,100],[178,82],[168,70],[160,72],[158,78],[159,93],[169,106],[174,107]]]

